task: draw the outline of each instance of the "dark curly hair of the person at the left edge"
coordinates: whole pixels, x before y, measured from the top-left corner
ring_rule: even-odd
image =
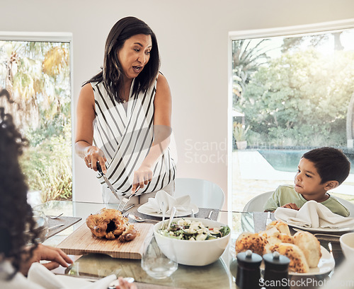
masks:
[[[1,90],[1,96],[8,98],[8,91]],[[18,160],[25,146],[28,141],[16,129],[11,114],[0,107],[0,263],[11,260],[15,270],[9,279],[20,269],[23,254],[30,259],[38,245],[32,208],[27,203],[28,186]],[[25,233],[27,226],[30,234]],[[28,252],[29,243],[34,246]]]

